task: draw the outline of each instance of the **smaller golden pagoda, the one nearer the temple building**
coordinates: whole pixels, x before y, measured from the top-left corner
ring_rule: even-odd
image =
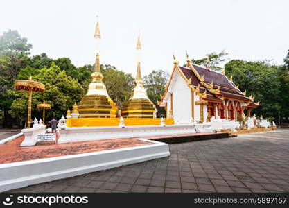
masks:
[[[137,53],[141,52],[141,40],[137,39]],[[143,78],[141,78],[141,62],[137,61],[137,76],[134,80],[135,87],[132,89],[130,99],[123,105],[123,118],[155,118],[157,109],[150,101],[143,87]]]

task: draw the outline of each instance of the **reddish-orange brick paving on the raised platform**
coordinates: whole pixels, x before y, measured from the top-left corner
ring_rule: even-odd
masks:
[[[37,146],[20,146],[23,139],[24,136],[21,136],[0,146],[0,164],[152,144],[138,139],[103,139],[63,144],[52,141]]]

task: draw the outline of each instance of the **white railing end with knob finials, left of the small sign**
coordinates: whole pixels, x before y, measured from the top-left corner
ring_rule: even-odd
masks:
[[[33,128],[22,129],[21,132],[24,135],[24,141],[21,146],[33,146],[37,142],[37,135],[45,134],[46,125],[43,125],[42,120],[37,121],[35,118],[33,121]]]

